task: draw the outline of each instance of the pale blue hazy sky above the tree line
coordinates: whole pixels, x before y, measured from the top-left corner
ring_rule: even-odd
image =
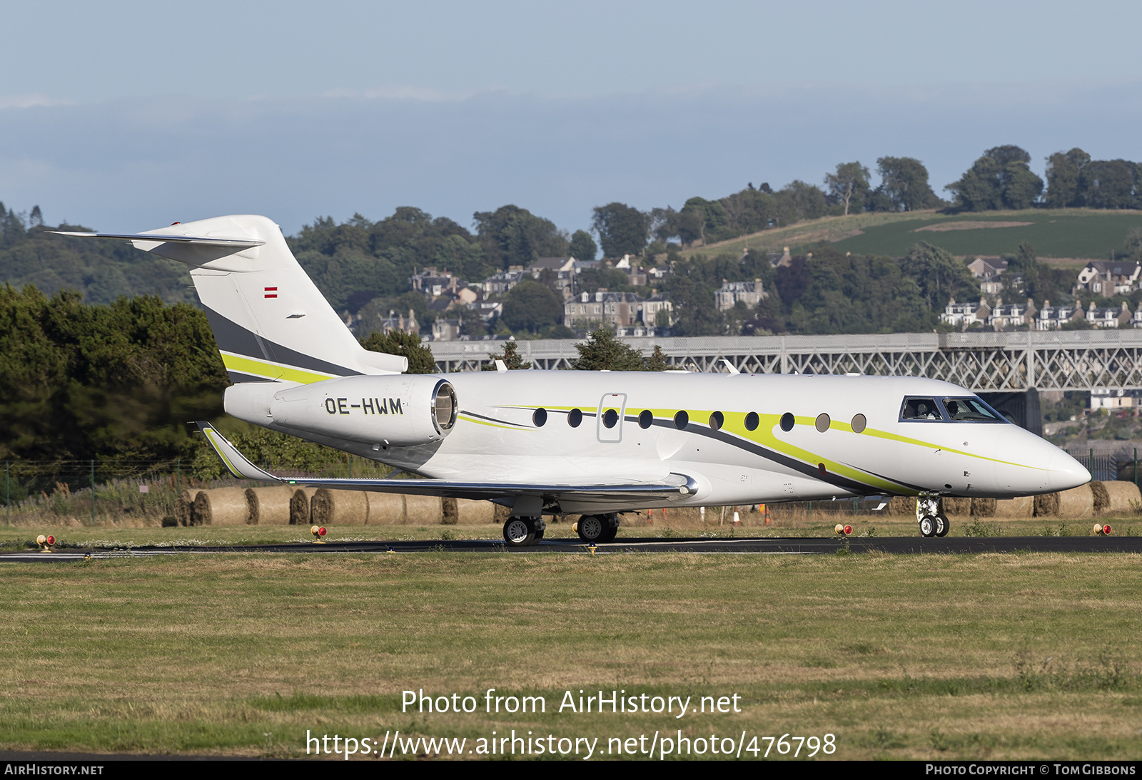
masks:
[[[0,0],[0,201],[143,230],[621,201],[986,149],[1142,160],[1142,5]]]

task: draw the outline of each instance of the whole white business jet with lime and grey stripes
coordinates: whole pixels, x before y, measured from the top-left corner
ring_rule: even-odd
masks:
[[[283,485],[493,501],[508,545],[577,513],[587,542],[664,506],[917,496],[1027,496],[1091,474],[955,384],[908,376],[497,371],[405,374],[365,350],[265,217],[217,217],[126,239],[185,262],[233,385],[226,412],[427,479],[283,479],[209,423],[235,476]]]

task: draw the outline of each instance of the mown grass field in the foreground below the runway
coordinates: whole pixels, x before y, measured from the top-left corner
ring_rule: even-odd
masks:
[[[834,734],[835,758],[1136,759],[1139,564],[441,553],[10,567],[0,745],[296,756],[307,730],[471,747],[515,729],[605,750],[681,730],[747,746]],[[546,713],[484,714],[489,688],[541,696]],[[480,710],[402,713],[401,691],[419,689]],[[741,712],[560,714],[580,689],[738,696]]]

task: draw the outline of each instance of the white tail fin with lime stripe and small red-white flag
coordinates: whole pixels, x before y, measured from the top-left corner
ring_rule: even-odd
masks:
[[[137,249],[190,266],[232,382],[320,382],[391,374],[408,358],[372,352],[306,276],[281,228],[265,217],[215,217],[126,238]]]

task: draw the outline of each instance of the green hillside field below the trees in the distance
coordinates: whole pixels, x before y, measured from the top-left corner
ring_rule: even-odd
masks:
[[[1030,224],[952,230],[919,229],[956,222]],[[934,211],[853,214],[827,217],[755,233],[719,244],[694,247],[683,254],[737,254],[747,246],[759,252],[781,251],[782,246],[789,246],[796,253],[811,251],[815,244],[827,241],[842,252],[900,257],[912,244],[926,241],[956,255],[998,255],[1014,252],[1021,242],[1027,241],[1039,257],[1109,260],[1112,251],[1123,252],[1126,234],[1136,227],[1142,227],[1142,212],[1095,209],[1030,209],[964,214],[939,214]]]

